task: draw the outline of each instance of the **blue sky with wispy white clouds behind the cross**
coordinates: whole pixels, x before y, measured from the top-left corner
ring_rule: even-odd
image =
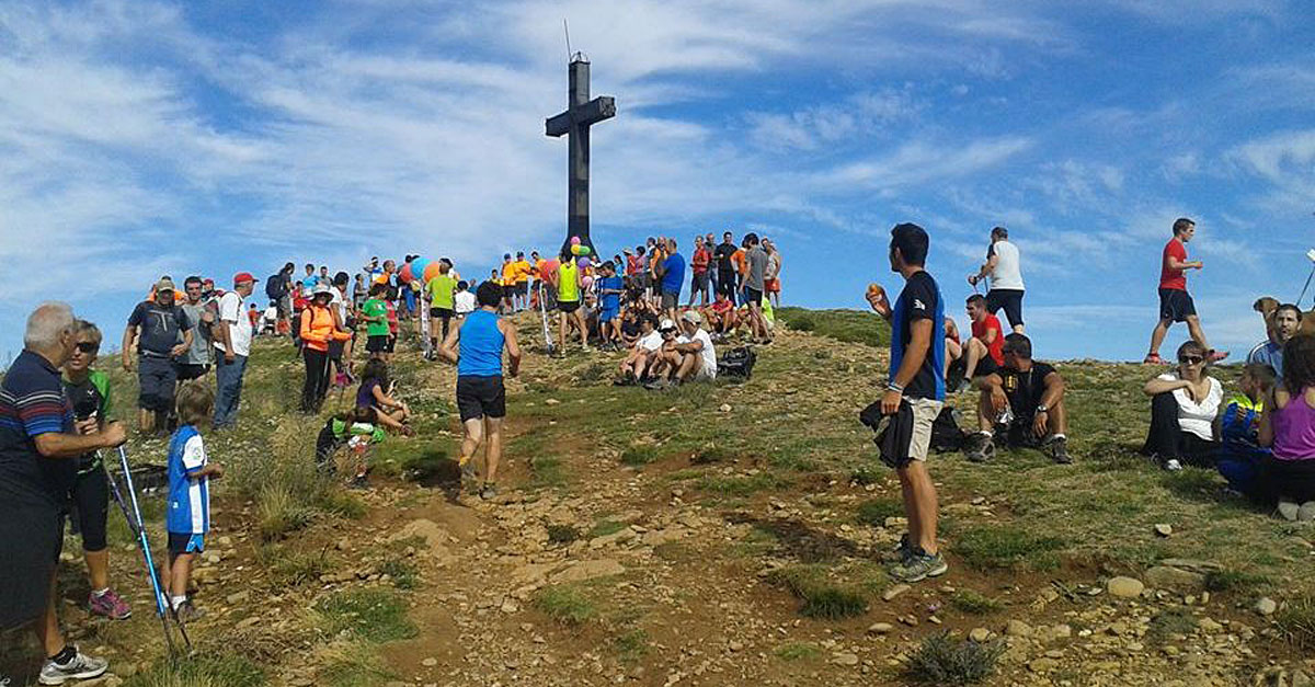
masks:
[[[1281,0],[0,4],[0,351],[59,297],[117,341],[154,278],[372,254],[487,274],[556,246],[562,20],[615,120],[593,232],[752,228],[785,300],[861,307],[889,228],[951,312],[1023,251],[1043,358],[1140,358],[1174,217],[1211,344],[1262,336],[1315,245],[1315,21]],[[1169,345],[1185,337],[1180,326]],[[1166,346],[1168,347],[1168,346]]]

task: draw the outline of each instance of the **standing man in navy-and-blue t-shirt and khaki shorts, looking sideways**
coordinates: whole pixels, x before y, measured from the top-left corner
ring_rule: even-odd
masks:
[[[901,561],[890,576],[909,583],[948,570],[936,546],[936,487],[927,472],[931,425],[945,405],[945,347],[940,345],[945,307],[940,287],[923,268],[928,243],[923,228],[896,225],[890,230],[890,270],[903,276],[905,288],[893,308],[880,284],[871,284],[867,293],[872,309],[890,322],[890,371],[881,415],[894,416],[888,432],[907,440],[890,457],[909,517],[909,533],[899,542]]]

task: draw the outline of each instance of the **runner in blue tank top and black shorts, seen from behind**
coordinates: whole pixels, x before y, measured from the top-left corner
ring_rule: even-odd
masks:
[[[480,496],[497,495],[497,463],[502,458],[502,419],[506,417],[506,390],[502,387],[502,349],[506,349],[506,374],[521,370],[521,346],[515,325],[498,317],[502,290],[484,282],[475,292],[479,309],[466,316],[462,326],[448,332],[438,354],[456,365],[456,408],[462,415],[466,438],[462,441],[462,476],[475,478],[475,451],[484,447],[484,487]]]

